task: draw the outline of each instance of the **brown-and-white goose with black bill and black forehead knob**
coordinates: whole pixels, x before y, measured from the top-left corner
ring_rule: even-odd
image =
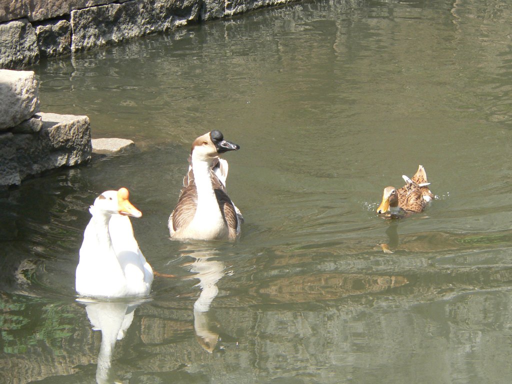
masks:
[[[168,227],[174,239],[234,240],[243,222],[226,192],[227,161],[219,156],[240,146],[214,130],[194,140],[188,172]]]

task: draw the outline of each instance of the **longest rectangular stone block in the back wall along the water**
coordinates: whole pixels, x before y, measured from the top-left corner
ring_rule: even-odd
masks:
[[[197,0],[132,0],[71,12],[73,52],[183,26],[200,17]]]

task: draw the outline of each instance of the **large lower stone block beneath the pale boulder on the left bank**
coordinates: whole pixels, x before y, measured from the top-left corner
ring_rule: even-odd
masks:
[[[42,127],[31,134],[0,134],[0,187],[19,185],[27,177],[91,159],[87,116],[38,113]]]

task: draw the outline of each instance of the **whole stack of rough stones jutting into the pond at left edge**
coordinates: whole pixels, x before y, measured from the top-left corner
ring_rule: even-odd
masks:
[[[0,189],[91,159],[87,116],[39,112],[32,71],[0,70]]]

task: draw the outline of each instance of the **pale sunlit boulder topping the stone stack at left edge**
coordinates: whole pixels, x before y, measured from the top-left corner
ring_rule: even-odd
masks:
[[[0,70],[0,131],[39,112],[38,84],[33,71]]]

